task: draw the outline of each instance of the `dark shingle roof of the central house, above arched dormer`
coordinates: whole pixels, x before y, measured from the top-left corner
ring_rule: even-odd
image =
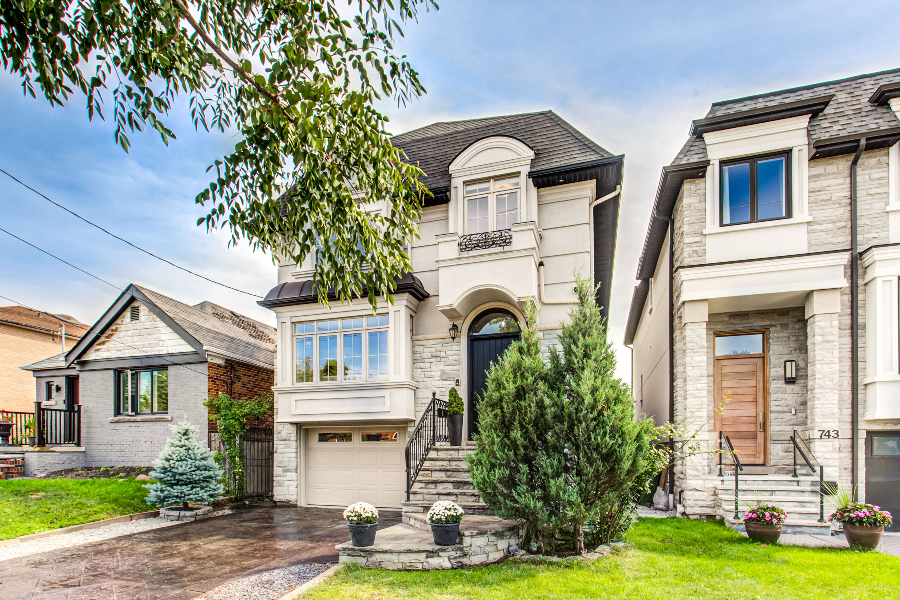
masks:
[[[516,138],[535,150],[534,171],[613,156],[553,111],[439,122],[402,133],[392,142],[406,152],[410,162],[419,163],[428,175],[423,179],[428,189],[440,193],[450,185],[449,167],[454,158],[473,142],[491,136]]]

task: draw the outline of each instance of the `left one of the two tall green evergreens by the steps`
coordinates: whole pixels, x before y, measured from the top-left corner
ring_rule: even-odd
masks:
[[[547,452],[558,402],[550,398],[534,301],[527,319],[522,339],[491,364],[478,405],[478,448],[466,462],[484,502],[497,515],[525,524],[526,539],[536,539],[543,552],[542,530],[553,508],[547,490],[562,476],[563,457]],[[555,481],[556,487],[562,484]]]

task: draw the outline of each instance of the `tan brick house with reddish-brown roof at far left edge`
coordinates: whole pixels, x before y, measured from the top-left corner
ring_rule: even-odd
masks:
[[[71,348],[86,330],[85,324],[68,315],[23,306],[0,307],[0,410],[33,411],[34,379],[22,371],[22,365]],[[66,387],[66,381],[58,383],[59,389],[50,392],[53,398],[76,394],[77,390]]]

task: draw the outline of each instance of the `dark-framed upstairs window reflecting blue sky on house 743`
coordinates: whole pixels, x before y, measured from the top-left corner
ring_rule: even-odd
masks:
[[[723,162],[722,225],[791,216],[790,152]]]

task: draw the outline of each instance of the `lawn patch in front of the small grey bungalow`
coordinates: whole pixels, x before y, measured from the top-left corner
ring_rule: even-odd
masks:
[[[133,477],[0,480],[0,540],[152,510],[145,483]]]

